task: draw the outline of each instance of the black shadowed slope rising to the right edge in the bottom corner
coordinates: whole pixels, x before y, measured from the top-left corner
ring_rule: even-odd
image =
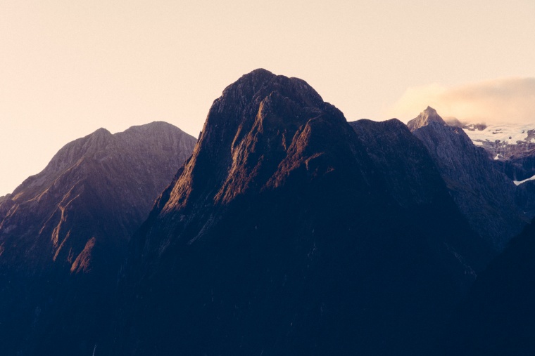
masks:
[[[479,275],[440,345],[446,355],[535,355],[535,225]]]

